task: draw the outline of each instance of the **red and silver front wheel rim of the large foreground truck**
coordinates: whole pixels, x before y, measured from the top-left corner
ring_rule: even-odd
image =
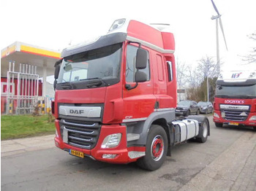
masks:
[[[162,158],[164,146],[164,139],[162,136],[155,136],[151,144],[151,157],[153,160],[158,161]]]

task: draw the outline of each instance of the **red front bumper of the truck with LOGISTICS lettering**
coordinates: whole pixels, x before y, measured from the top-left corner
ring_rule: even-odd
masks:
[[[214,119],[213,119],[214,122],[219,122],[227,125],[233,125],[232,123],[235,122],[235,123],[238,123],[239,125],[244,125],[244,126],[254,126],[254,127],[256,126],[256,120],[249,120],[250,117],[256,115],[255,112],[250,112],[248,117],[244,121],[225,120],[225,118],[222,117],[221,111],[215,110],[214,112],[219,115],[219,118],[214,116]]]

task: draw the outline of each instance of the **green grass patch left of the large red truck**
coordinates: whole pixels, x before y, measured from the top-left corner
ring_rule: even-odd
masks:
[[[55,132],[54,122],[48,115],[1,115],[1,140],[41,136]]]

